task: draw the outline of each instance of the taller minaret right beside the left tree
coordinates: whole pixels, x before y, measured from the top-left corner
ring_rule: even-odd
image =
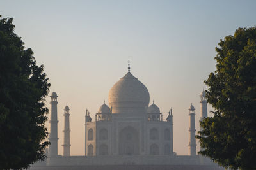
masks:
[[[50,136],[49,141],[51,145],[49,146],[49,157],[54,157],[58,155],[58,118],[57,118],[57,94],[53,90],[51,97],[51,120],[50,122]]]

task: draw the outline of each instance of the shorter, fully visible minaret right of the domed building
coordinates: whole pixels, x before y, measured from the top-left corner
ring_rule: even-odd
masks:
[[[189,116],[190,116],[190,122],[189,122],[189,150],[188,155],[195,156],[196,155],[196,138],[195,138],[195,108],[191,103],[191,106],[189,108]]]

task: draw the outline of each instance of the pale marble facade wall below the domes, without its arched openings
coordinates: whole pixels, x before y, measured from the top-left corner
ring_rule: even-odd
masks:
[[[170,140],[164,140],[164,129],[169,129],[171,133],[172,124],[170,122],[163,121],[148,121],[147,117],[134,116],[131,117],[129,115],[113,115],[112,122],[87,122],[87,135],[86,135],[86,148],[88,150],[88,145],[92,144],[95,154],[99,155],[99,146],[102,144],[106,144],[108,146],[108,154],[109,155],[119,155],[119,135],[120,132],[125,127],[133,127],[138,132],[139,136],[139,150],[140,155],[149,155],[150,154],[150,146],[152,144],[156,144],[158,146],[159,155],[164,155],[164,146],[166,143],[170,145],[170,149],[172,148],[172,135],[170,135]],[[100,141],[99,140],[99,132],[100,129],[105,128],[108,130],[108,140]],[[152,140],[150,139],[150,129],[156,128],[158,131],[158,139]],[[88,141],[88,131],[93,129],[94,138],[93,141]],[[170,154],[172,150],[170,150]],[[86,154],[88,155],[88,154]]]

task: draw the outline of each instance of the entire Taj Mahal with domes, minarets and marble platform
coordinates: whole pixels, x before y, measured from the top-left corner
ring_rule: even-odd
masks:
[[[147,87],[130,71],[109,90],[95,113],[95,121],[86,109],[84,120],[84,155],[70,156],[70,108],[64,108],[63,155],[58,155],[58,95],[51,94],[49,141],[45,162],[31,169],[223,169],[196,153],[195,108],[189,115],[188,155],[173,152],[173,114],[163,114],[154,101],[149,104]],[[204,90],[200,94],[200,117],[207,117]],[[94,115],[93,115],[94,116]]]

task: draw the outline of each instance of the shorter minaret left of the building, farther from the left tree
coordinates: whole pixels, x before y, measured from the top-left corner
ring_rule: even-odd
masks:
[[[64,143],[63,143],[63,156],[70,156],[70,126],[69,126],[69,113],[70,109],[67,106],[64,108]]]

